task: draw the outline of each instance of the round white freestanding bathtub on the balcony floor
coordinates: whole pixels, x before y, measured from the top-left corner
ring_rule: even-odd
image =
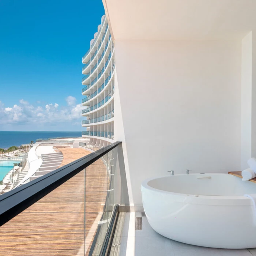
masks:
[[[251,181],[230,174],[178,174],[147,179],[141,190],[148,222],[162,236],[215,248],[256,247],[253,204],[243,196],[256,193]]]

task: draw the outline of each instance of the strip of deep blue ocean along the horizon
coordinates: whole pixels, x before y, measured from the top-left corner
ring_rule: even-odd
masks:
[[[82,132],[16,132],[0,131],[0,148],[30,144],[37,139],[49,139],[56,137],[82,137]]]

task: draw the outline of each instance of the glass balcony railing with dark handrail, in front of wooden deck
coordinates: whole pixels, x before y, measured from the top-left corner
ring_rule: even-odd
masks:
[[[121,154],[115,142],[0,195],[1,255],[105,255],[129,206]]]

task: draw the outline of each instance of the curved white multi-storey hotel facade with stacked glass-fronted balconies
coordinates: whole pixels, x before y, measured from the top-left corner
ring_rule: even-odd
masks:
[[[114,141],[114,45],[105,15],[82,63],[82,136],[97,150]]]

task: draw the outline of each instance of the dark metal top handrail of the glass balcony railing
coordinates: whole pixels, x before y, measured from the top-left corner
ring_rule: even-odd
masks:
[[[0,226],[52,192],[61,184],[97,161],[121,142],[114,142],[53,172],[19,186],[0,196]]]

